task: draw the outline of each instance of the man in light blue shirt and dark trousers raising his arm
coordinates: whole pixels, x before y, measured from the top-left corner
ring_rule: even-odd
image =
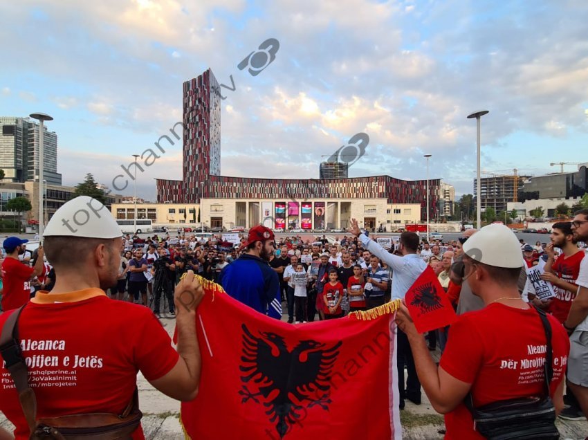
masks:
[[[398,250],[402,253],[402,257],[388,253],[376,241],[362,234],[356,219],[351,219],[351,227],[349,232],[361,240],[363,247],[372,255],[376,255],[380,261],[385,262],[392,268],[392,300],[402,300],[410,286],[414,284],[416,279],[425,271],[427,264],[416,253],[419,248],[419,236],[414,232],[403,232],[400,236]],[[414,367],[414,360],[412,358],[412,351],[408,339],[401,329],[398,329],[398,391],[400,392],[401,410],[404,408],[404,398],[421,404],[421,383],[416,375]],[[407,386],[405,390],[404,384],[404,365],[407,367]]]

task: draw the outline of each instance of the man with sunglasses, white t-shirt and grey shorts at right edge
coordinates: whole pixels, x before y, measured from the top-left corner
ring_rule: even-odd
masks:
[[[571,230],[575,241],[588,241],[588,209],[573,216]],[[570,334],[567,385],[578,399],[580,408],[588,418],[588,258],[580,263],[578,291],[564,327]]]

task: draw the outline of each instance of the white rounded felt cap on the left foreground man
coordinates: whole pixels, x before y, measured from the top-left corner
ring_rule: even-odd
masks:
[[[55,236],[113,239],[122,237],[122,230],[100,201],[78,196],[51,217],[43,237]]]

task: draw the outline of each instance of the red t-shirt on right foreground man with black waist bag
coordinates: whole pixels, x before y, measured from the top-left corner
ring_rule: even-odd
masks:
[[[566,369],[569,338],[562,324],[551,315],[548,319],[553,334],[553,396]],[[439,365],[459,381],[472,384],[474,406],[479,407],[509,398],[541,396],[545,351],[545,333],[535,309],[494,303],[457,318]],[[460,403],[445,414],[445,439],[484,439],[473,426],[471,413]]]

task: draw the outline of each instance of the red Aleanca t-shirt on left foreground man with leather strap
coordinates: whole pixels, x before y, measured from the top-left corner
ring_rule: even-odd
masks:
[[[139,370],[153,381],[178,362],[167,331],[149,309],[110,300],[100,289],[75,292],[84,293],[98,296],[55,304],[33,300],[19,318],[19,340],[37,396],[38,417],[120,414],[131,401]],[[0,328],[8,315],[0,315]],[[16,426],[17,440],[28,439],[17,392],[1,356],[0,412]],[[133,439],[144,438],[141,428],[133,434]]]

